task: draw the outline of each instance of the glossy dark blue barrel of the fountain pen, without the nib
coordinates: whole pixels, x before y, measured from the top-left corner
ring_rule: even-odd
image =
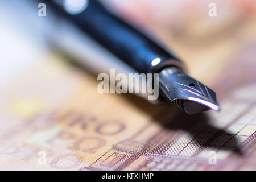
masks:
[[[160,72],[183,64],[137,28],[109,13],[100,2],[89,0],[85,10],[67,14],[83,32],[139,73]]]

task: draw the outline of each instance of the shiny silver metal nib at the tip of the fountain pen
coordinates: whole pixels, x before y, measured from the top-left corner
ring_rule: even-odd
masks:
[[[186,75],[180,68],[163,69],[159,73],[159,88],[169,100],[187,114],[209,109],[220,110],[215,92]]]

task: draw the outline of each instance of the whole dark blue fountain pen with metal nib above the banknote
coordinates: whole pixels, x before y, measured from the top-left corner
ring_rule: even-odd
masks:
[[[166,51],[138,28],[111,13],[101,2],[96,0],[45,2],[52,11],[72,22],[72,26],[75,26],[80,34],[86,35],[90,40],[104,47],[137,73],[159,73],[159,94],[162,101],[175,104],[187,114],[210,109],[220,110],[216,93],[188,76],[184,64],[174,53]],[[68,36],[75,35],[69,32]],[[61,35],[60,39],[65,38]],[[82,44],[85,43],[80,43],[80,46]],[[69,50],[73,48],[76,55],[83,52],[81,47],[72,46],[68,41],[61,43],[61,46],[66,48],[69,46]],[[101,66],[96,62],[94,64]]]

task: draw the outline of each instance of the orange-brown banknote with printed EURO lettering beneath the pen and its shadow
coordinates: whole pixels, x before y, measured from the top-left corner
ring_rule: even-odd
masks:
[[[223,90],[221,113],[188,116],[99,94],[92,75],[49,59],[1,90],[1,169],[255,169],[255,82]]]

